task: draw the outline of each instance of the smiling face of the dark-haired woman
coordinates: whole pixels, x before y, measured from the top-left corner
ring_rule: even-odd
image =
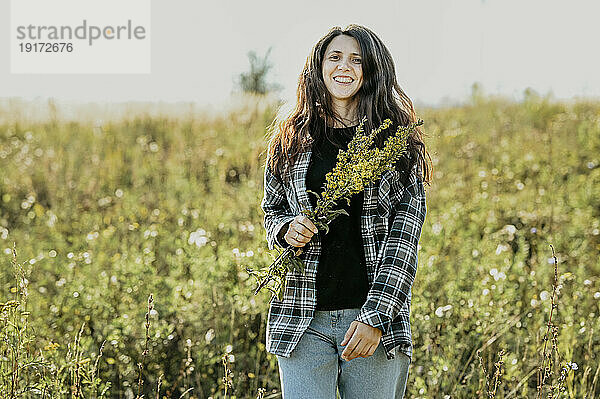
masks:
[[[352,102],[362,86],[362,59],[358,41],[348,35],[333,38],[325,50],[321,69],[334,104]]]

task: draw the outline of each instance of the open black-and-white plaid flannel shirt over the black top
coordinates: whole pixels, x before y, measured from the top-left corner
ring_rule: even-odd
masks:
[[[281,228],[312,206],[306,192],[306,173],[312,151],[299,154],[282,179],[265,168],[264,227],[269,249],[281,245]],[[369,278],[367,300],[356,320],[380,328],[388,359],[394,348],[412,358],[410,330],[411,287],[417,271],[419,238],[425,221],[425,190],[413,168],[406,187],[396,170],[365,187],[361,230]],[[340,216],[343,217],[343,216]],[[316,307],[316,276],[322,232],[303,247],[305,274],[288,272],[283,300],[271,299],[266,329],[268,352],[289,357],[310,324]]]

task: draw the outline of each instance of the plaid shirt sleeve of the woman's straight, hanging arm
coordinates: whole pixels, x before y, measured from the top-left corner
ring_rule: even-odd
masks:
[[[395,179],[395,193],[401,196],[385,242],[381,265],[356,320],[379,328],[385,334],[406,304],[417,272],[418,244],[427,213],[425,190],[415,177],[406,188]],[[398,190],[399,188],[399,190]]]

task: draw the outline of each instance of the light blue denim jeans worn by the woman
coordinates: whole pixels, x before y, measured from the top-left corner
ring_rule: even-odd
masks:
[[[289,358],[277,355],[283,399],[402,399],[410,358],[383,344],[373,355],[346,361],[340,343],[360,309],[316,310]]]

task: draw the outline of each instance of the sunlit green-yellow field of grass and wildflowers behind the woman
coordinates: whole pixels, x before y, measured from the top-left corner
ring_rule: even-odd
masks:
[[[275,112],[259,97],[218,113],[0,102],[1,397],[279,397],[269,296],[245,272],[272,260],[259,205]],[[406,397],[536,397],[550,244],[544,397],[567,361],[553,397],[600,397],[600,103],[417,112],[434,179]]]

